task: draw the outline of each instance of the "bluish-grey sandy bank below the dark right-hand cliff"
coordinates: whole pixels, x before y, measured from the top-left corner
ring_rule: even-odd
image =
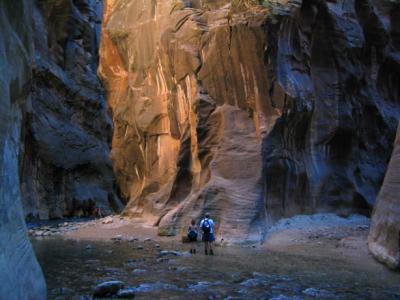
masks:
[[[335,258],[364,268],[385,267],[368,251],[370,219],[334,214],[283,219],[268,232],[262,248],[318,259]]]

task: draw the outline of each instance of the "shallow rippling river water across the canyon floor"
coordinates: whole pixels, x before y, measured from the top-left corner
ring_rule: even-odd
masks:
[[[32,244],[49,299],[91,299],[93,288],[109,280],[134,288],[136,299],[400,299],[399,273],[335,258],[239,247],[205,256],[201,245],[190,255],[176,242],[34,238]]]

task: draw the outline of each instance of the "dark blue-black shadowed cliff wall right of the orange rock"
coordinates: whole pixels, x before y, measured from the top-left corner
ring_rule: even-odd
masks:
[[[399,13],[395,1],[303,1],[272,29],[286,96],[263,141],[271,219],[372,210],[400,113]]]

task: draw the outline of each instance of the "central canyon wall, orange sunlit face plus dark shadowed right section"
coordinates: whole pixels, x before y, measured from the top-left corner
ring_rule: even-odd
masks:
[[[209,211],[225,239],[258,240],[374,204],[400,112],[395,4],[267,2],[105,2],[114,172],[160,234]]]

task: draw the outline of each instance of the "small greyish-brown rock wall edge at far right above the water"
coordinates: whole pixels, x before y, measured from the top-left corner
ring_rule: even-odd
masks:
[[[392,269],[400,269],[400,131],[372,214],[368,246]]]

